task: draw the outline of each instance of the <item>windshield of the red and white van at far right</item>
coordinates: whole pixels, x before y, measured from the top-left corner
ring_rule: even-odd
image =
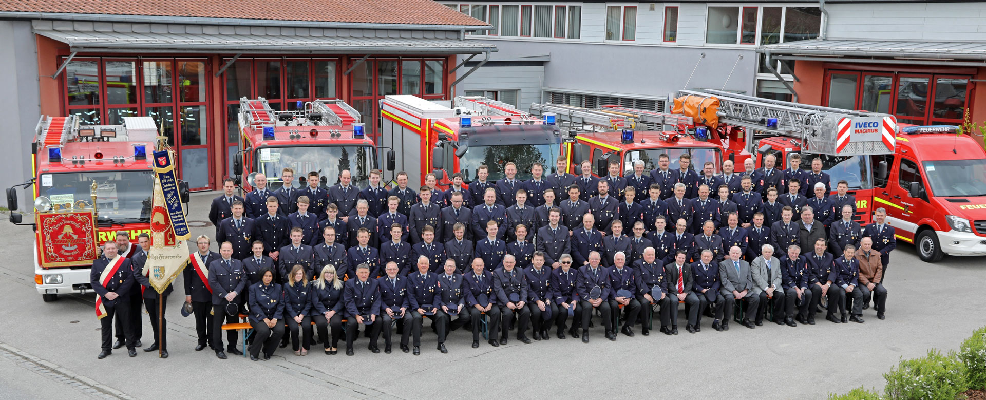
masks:
[[[936,196],[986,196],[986,160],[924,162],[924,168]]]

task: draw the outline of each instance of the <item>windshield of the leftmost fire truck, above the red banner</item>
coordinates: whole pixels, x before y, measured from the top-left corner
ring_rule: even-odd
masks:
[[[51,199],[51,204],[92,203],[95,180],[100,220],[134,220],[122,221],[129,223],[151,217],[152,170],[44,173],[40,178],[38,195]]]

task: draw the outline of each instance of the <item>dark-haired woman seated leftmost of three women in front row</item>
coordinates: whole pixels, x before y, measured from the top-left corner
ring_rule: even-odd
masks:
[[[249,346],[249,359],[256,361],[263,348],[263,360],[277,350],[277,344],[284,335],[284,292],[274,282],[274,272],[270,268],[260,271],[260,282],[249,287],[249,324],[256,338]]]

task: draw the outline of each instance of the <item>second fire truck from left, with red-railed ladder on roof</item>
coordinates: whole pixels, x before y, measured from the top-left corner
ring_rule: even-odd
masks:
[[[253,176],[263,173],[267,188],[277,189],[281,170],[291,167],[304,185],[309,171],[321,176],[321,186],[337,183],[339,172],[349,169],[352,183],[370,185],[370,170],[379,168],[377,147],[364,131],[360,113],[342,100],[298,101],[297,110],[275,111],[263,98],[240,100],[240,152],[233,161],[239,180],[246,172],[244,188],[252,190]],[[387,169],[393,170],[393,151],[387,152]],[[328,182],[327,178],[336,179]]]

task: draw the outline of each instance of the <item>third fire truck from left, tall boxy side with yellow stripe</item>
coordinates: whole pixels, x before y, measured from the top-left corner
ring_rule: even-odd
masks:
[[[455,172],[472,181],[481,165],[489,167],[489,179],[501,179],[508,162],[517,165],[518,179],[529,179],[531,164],[553,170],[549,166],[554,166],[560,145],[571,141],[553,117],[534,117],[484,97],[432,101],[387,96],[381,100],[381,119],[381,143],[404,149],[396,165],[407,171],[408,180],[424,182],[424,175],[435,171],[442,186],[452,182],[448,175]]]

